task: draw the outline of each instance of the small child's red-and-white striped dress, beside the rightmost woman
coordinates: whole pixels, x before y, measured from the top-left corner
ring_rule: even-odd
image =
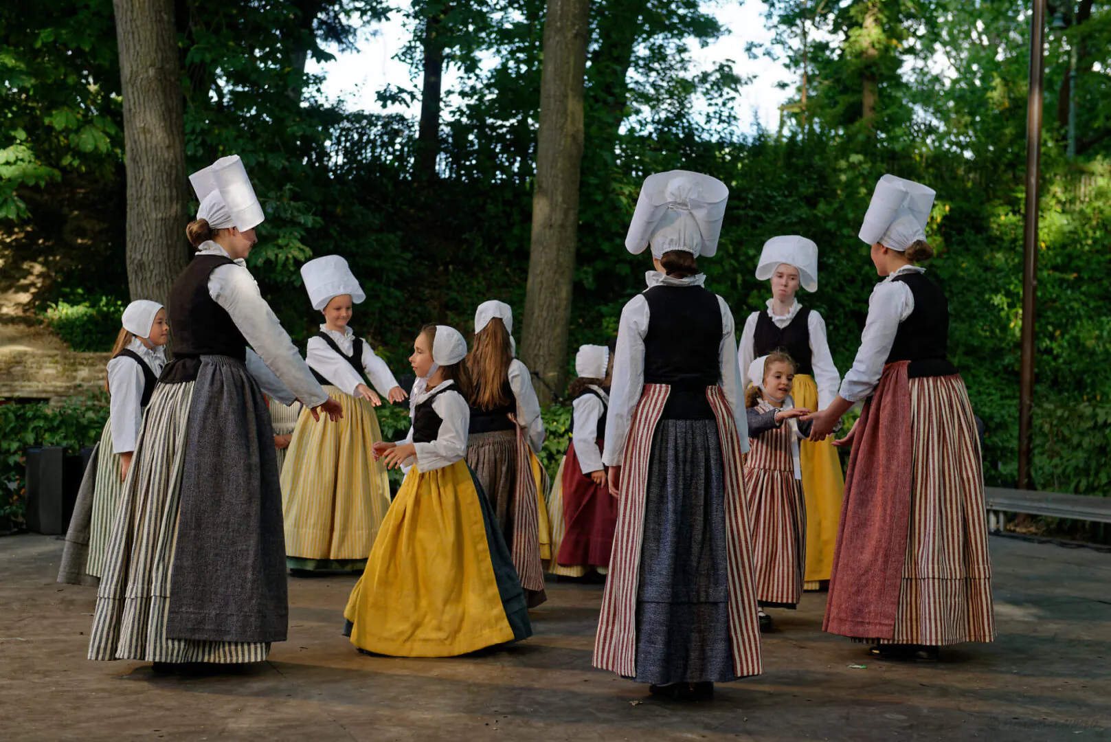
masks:
[[[760,412],[772,409],[767,401]],[[793,608],[802,596],[807,548],[807,505],[794,479],[791,427],[749,439],[744,483],[752,519],[752,569],[757,600],[764,606]]]

